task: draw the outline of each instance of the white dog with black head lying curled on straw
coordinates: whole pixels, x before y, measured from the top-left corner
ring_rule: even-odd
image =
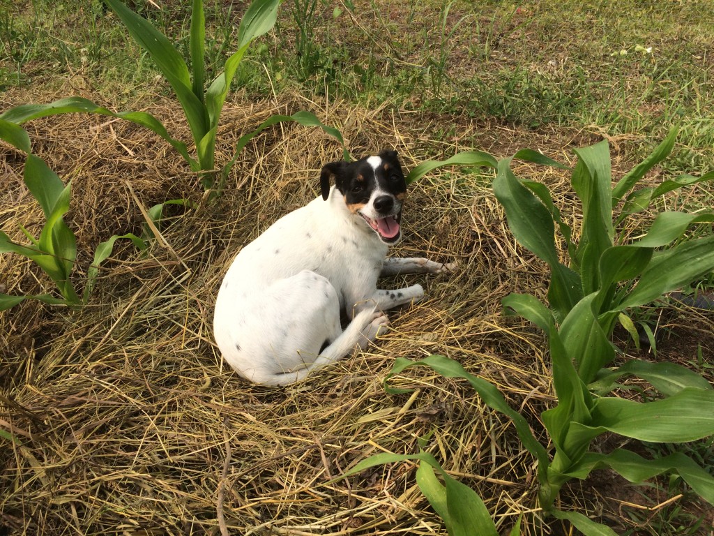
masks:
[[[218,292],[218,348],[252,382],[303,379],[376,339],[388,326],[384,310],[424,296],[418,284],[378,290],[378,277],[451,269],[421,258],[385,259],[401,239],[406,193],[395,151],[327,164],[320,186],[322,198],[243,247]],[[341,310],[352,319],[344,330]]]

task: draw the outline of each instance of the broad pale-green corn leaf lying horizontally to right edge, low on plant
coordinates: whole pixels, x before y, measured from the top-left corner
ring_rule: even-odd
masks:
[[[655,402],[621,398],[595,399],[588,425],[573,422],[571,445],[589,442],[609,431],[649,442],[685,442],[714,435],[714,389],[685,387]]]

